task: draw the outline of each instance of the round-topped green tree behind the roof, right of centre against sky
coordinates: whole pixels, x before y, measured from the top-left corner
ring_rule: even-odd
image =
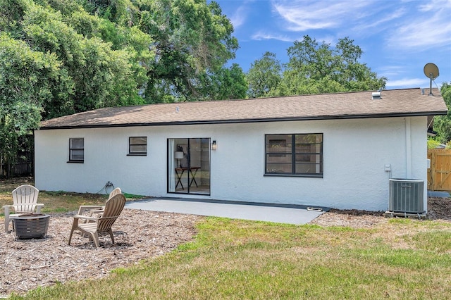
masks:
[[[287,54],[289,61],[283,67],[268,52],[251,65],[249,97],[364,91],[384,88],[387,81],[359,62],[363,51],[347,37],[332,47],[306,35]]]

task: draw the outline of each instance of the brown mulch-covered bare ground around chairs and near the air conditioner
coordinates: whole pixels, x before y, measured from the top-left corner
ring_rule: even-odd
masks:
[[[428,218],[451,220],[451,199],[429,198]],[[55,282],[100,278],[118,267],[152,258],[192,240],[195,223],[203,217],[124,209],[113,225],[116,244],[109,236],[100,237],[95,249],[78,233],[68,246],[75,213],[51,215],[45,239],[16,240],[14,233],[0,232],[0,297],[24,293]],[[321,226],[376,227],[388,219],[380,212],[331,210],[313,220]],[[0,219],[3,224],[3,218]],[[3,228],[3,227],[2,227]]]

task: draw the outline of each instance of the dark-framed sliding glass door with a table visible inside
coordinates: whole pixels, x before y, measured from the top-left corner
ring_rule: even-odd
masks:
[[[168,192],[210,194],[210,139],[168,139]]]

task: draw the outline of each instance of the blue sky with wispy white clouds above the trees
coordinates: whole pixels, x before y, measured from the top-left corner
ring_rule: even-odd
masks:
[[[286,50],[309,35],[335,46],[349,37],[361,63],[388,78],[386,89],[429,87],[424,65],[435,63],[433,87],[451,82],[451,0],[217,0],[235,28],[235,60],[247,72],[266,51],[288,62]]]

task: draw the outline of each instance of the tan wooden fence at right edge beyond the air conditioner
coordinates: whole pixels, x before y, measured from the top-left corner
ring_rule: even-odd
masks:
[[[428,149],[428,190],[451,192],[451,149]]]

